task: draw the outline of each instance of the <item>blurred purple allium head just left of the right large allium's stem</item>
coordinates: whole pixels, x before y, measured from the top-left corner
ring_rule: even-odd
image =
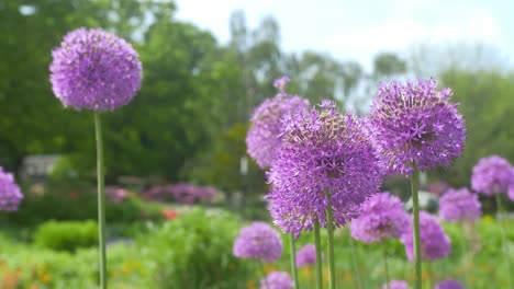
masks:
[[[400,238],[409,227],[409,215],[399,197],[381,193],[367,199],[350,223],[351,236],[366,243]]]

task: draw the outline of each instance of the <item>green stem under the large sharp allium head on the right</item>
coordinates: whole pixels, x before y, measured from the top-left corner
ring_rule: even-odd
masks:
[[[415,267],[415,289],[422,288],[422,267],[421,267],[421,242],[420,242],[420,200],[417,192],[417,182],[420,171],[414,167],[411,176],[411,190],[412,190],[412,220],[414,233],[414,267]]]

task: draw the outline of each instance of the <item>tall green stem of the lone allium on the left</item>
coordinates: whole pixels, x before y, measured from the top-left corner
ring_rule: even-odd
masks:
[[[100,246],[100,288],[107,289],[107,253],[105,253],[105,189],[103,173],[102,124],[100,113],[94,112],[94,136],[97,139],[97,182],[98,182],[98,234]]]

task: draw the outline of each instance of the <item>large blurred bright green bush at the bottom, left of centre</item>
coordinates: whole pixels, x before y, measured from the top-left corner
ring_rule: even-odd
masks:
[[[154,229],[139,242],[156,263],[156,288],[245,288],[245,263],[232,253],[241,226],[226,211],[194,208]]]

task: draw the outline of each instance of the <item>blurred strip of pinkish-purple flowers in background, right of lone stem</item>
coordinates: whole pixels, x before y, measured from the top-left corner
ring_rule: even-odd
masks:
[[[154,186],[144,194],[146,199],[164,201],[167,199],[180,204],[192,205],[195,203],[209,203],[219,190],[211,186],[195,186],[188,183],[178,183],[167,186]]]

